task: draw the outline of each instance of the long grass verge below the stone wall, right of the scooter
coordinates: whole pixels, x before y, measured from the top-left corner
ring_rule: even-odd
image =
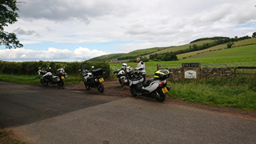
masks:
[[[256,82],[254,78],[223,78],[171,83],[172,98],[200,102],[212,106],[228,106],[256,110]]]

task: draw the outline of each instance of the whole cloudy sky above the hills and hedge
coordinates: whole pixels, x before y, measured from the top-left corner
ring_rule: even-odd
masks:
[[[0,60],[82,62],[105,54],[180,46],[197,38],[251,36],[255,0],[18,0],[18,22],[4,27],[22,48],[0,46]]]

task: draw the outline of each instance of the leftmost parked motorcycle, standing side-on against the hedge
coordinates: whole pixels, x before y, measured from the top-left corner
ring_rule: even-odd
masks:
[[[38,74],[42,76],[41,83],[42,86],[47,86],[50,84],[58,84],[58,86],[64,86],[64,78],[67,78],[67,74],[65,73],[65,70],[60,68],[56,71],[56,75],[53,75],[50,72],[50,67],[48,68],[48,71],[45,67],[42,68],[42,70],[38,70]]]

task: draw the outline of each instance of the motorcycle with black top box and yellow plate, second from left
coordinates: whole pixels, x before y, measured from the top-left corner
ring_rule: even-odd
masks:
[[[107,78],[106,72],[103,72],[102,68],[96,70],[87,70],[85,69],[86,65],[82,66],[80,74],[82,74],[82,81],[86,86],[86,90],[90,90],[91,87],[97,88],[98,92],[103,93],[104,86],[102,82]],[[94,69],[94,66],[91,67]]]

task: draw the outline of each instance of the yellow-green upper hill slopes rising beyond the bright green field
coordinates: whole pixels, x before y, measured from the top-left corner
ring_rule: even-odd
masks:
[[[216,40],[216,38],[221,38],[221,39]],[[148,48],[148,49],[142,49],[142,50],[134,50],[130,53],[124,53],[124,54],[107,54],[97,58],[92,58],[90,59],[90,61],[126,60],[126,59],[132,59],[136,57],[150,58],[150,54],[164,54],[164,53],[170,53],[170,52],[177,52],[178,50],[188,50],[194,45],[196,46],[203,46],[205,44],[212,45],[209,48],[206,48],[204,50],[196,50],[192,52],[186,52],[184,54],[180,54],[180,53],[177,54],[178,59],[190,58],[197,54],[203,54],[203,53],[211,52],[215,50],[224,50],[226,48],[226,43],[219,44],[219,45],[217,45],[216,43],[218,43],[219,40],[222,41],[225,38],[226,37],[213,37],[212,39],[199,38],[197,40],[190,42],[189,44],[182,45],[182,46],[154,47],[154,48]],[[233,46],[243,46],[251,43],[256,43],[256,38],[250,38],[250,39],[234,42]]]

